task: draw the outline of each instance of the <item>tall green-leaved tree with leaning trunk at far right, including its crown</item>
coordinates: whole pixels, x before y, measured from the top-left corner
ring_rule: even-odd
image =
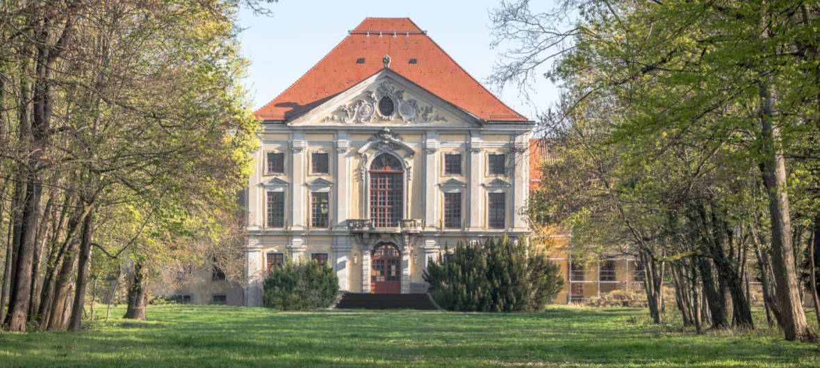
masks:
[[[567,25],[570,9],[578,16]],[[758,168],[781,327],[786,339],[813,341],[795,272],[786,156],[818,121],[817,4],[567,0],[536,13],[518,1],[493,14],[498,38],[515,45],[495,81],[526,80],[554,60],[549,76],[576,92],[568,106],[617,103],[611,143],[650,147],[683,135],[727,144],[727,158]]]

